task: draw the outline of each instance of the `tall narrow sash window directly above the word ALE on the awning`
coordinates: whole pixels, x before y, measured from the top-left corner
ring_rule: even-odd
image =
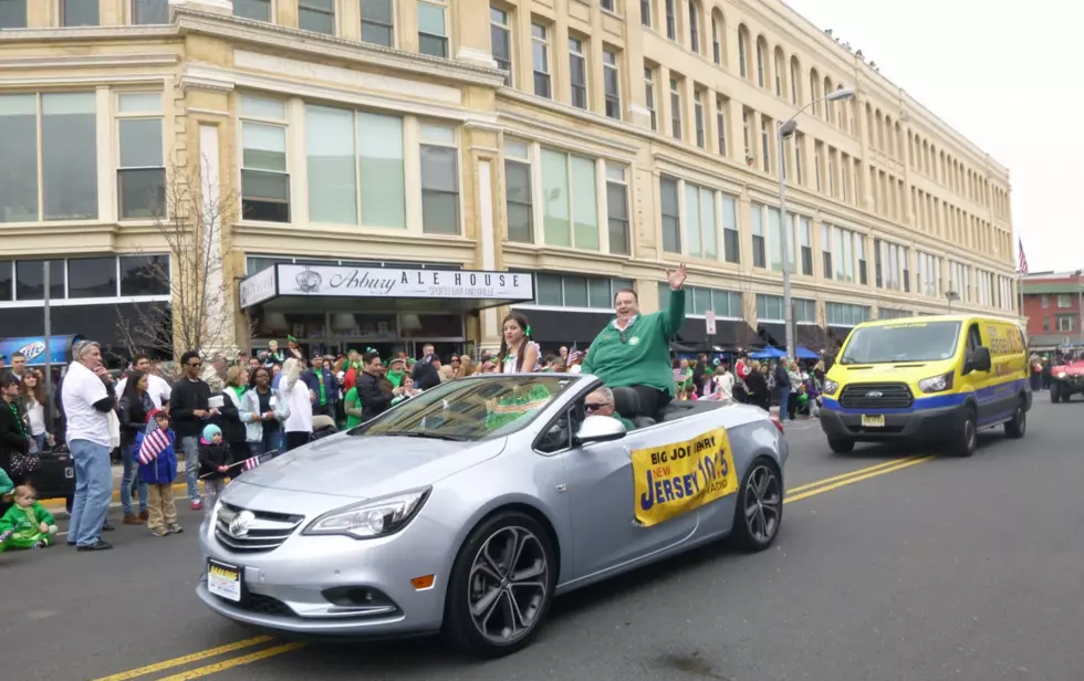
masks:
[[[459,145],[456,129],[421,124],[421,231],[459,233]]]

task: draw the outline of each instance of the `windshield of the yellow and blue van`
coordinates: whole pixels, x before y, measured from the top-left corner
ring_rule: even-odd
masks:
[[[907,322],[859,326],[851,332],[840,364],[935,362],[956,354],[959,322]]]

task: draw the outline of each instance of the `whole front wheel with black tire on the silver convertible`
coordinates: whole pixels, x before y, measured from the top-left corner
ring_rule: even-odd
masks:
[[[482,658],[524,648],[541,629],[556,577],[555,551],[541,523],[519,511],[487,518],[452,567],[445,633]]]

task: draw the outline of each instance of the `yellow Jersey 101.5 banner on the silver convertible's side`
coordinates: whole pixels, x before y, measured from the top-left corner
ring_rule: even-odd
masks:
[[[726,428],[633,451],[634,516],[657,525],[738,491]]]

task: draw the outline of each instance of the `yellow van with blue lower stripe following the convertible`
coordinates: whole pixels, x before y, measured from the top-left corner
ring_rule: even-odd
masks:
[[[1031,409],[1028,347],[1015,321],[971,315],[855,326],[824,380],[821,428],[836,453],[855,442],[929,441],[970,457],[977,432],[1022,438]]]

